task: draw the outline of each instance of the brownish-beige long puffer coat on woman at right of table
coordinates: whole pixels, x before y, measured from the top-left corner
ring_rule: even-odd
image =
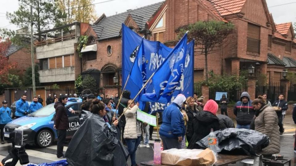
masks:
[[[280,152],[280,132],[278,116],[272,107],[265,105],[255,119],[255,130],[269,136],[269,145],[262,149],[261,154],[277,154]]]

